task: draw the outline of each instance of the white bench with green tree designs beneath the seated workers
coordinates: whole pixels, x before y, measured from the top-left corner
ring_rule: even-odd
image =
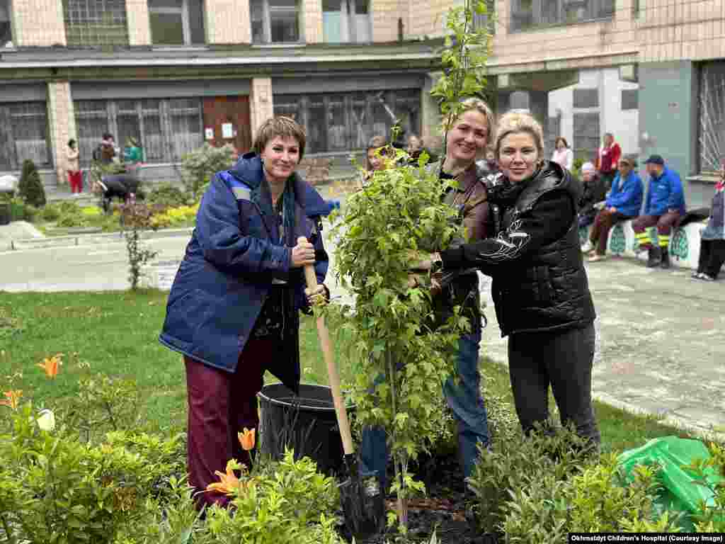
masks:
[[[697,270],[697,260],[700,258],[700,235],[705,230],[707,221],[687,223],[684,227],[674,229],[670,238],[670,260],[673,265],[683,268]],[[592,226],[579,229],[579,238],[583,244],[589,237]],[[657,243],[657,227],[648,229]],[[631,221],[617,223],[609,231],[607,240],[608,255],[620,257],[638,257],[640,260],[647,260],[647,252],[637,255],[634,250],[637,248],[637,239],[634,237]]]

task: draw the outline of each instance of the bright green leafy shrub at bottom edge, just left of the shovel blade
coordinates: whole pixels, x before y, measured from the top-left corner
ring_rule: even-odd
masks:
[[[339,503],[335,480],[318,474],[310,458],[262,466],[233,498],[232,508],[207,512],[207,539],[220,544],[337,544],[330,513]]]

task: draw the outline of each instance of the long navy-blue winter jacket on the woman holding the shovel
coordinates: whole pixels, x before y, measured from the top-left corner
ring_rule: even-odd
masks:
[[[315,272],[322,283],[328,255],[320,234],[327,203],[312,186],[293,175],[297,196],[294,240],[315,244]],[[291,268],[291,247],[279,236],[269,186],[260,157],[247,153],[233,170],[217,173],[202,197],[196,228],[169,294],[160,342],[225,371],[236,371],[239,354],[262,310],[273,280],[295,289],[292,323],[286,323],[275,368],[268,368],[292,390],[299,384],[299,313],[305,310],[302,268]],[[292,298],[292,297],[290,297]]]

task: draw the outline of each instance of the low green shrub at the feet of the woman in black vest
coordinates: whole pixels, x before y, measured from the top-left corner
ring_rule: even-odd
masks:
[[[514,509],[507,503],[510,498],[518,504],[517,498],[526,498],[526,493],[534,493],[536,500],[547,493],[552,495],[560,489],[558,482],[579,473],[591,462],[587,444],[571,429],[558,429],[551,436],[542,430],[529,437],[519,432],[497,441],[492,452],[481,453],[468,485],[476,495],[484,532],[502,529],[509,510]]]

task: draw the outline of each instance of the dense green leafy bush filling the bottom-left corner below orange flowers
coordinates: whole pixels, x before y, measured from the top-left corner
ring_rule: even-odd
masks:
[[[31,403],[0,435],[0,458],[0,518],[9,542],[111,543],[146,515],[152,471],[145,458],[43,431]]]

